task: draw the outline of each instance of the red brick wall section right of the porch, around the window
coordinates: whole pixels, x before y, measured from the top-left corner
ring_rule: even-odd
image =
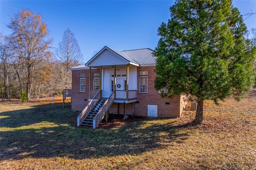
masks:
[[[180,117],[180,96],[175,96],[172,100],[162,99],[161,94],[154,88],[156,73],[154,66],[137,68],[137,92],[138,102],[135,103],[136,116],[148,116],[148,105],[157,105],[158,117]],[[140,71],[148,71],[148,75],[140,75]],[[148,93],[140,93],[140,76],[148,76]],[[169,105],[166,103],[170,103]]]

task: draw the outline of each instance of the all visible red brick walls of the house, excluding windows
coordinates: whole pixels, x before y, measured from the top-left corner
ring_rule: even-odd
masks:
[[[137,93],[138,103],[126,104],[126,115],[133,114],[136,116],[148,116],[148,105],[157,105],[158,117],[180,117],[184,106],[182,96],[175,96],[172,100],[162,99],[160,93],[154,88],[154,80],[156,73],[154,66],[138,67],[137,68]],[[140,71],[148,71],[148,75],[140,75]],[[99,72],[99,69],[92,69],[92,74]],[[86,92],[79,92],[79,74],[86,73]],[[148,93],[140,93],[140,76],[148,77]],[[91,88],[93,85],[93,77],[91,78]],[[89,69],[72,71],[72,110],[82,111],[89,103]],[[85,99],[87,101],[85,101]],[[170,103],[170,104],[166,104]],[[109,113],[123,114],[123,104],[113,103]]]

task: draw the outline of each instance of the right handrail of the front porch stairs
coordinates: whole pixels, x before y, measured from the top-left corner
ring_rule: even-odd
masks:
[[[93,122],[93,128],[96,129],[96,127],[100,124],[100,122],[102,121],[102,119],[104,118],[104,116],[106,115],[109,107],[112,105],[112,103],[114,102],[114,94],[115,91],[113,91],[110,96],[108,97],[108,99],[106,100],[106,102],[104,103],[104,105],[102,106],[102,108],[100,109],[100,111],[95,115],[95,117],[93,118],[92,122]]]

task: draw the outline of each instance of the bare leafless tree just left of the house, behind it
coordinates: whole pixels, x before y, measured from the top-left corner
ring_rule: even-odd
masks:
[[[70,68],[79,65],[82,62],[83,55],[74,33],[70,29],[64,32],[62,41],[56,49],[56,55],[60,60],[56,65],[56,72],[58,73],[58,80],[62,82],[62,89],[71,88],[72,73]]]

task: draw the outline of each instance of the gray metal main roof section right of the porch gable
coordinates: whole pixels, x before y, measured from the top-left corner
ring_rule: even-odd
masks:
[[[153,50],[150,48],[133,49],[127,51],[121,51],[125,55],[134,59],[139,65],[156,64],[156,56],[153,55]]]

